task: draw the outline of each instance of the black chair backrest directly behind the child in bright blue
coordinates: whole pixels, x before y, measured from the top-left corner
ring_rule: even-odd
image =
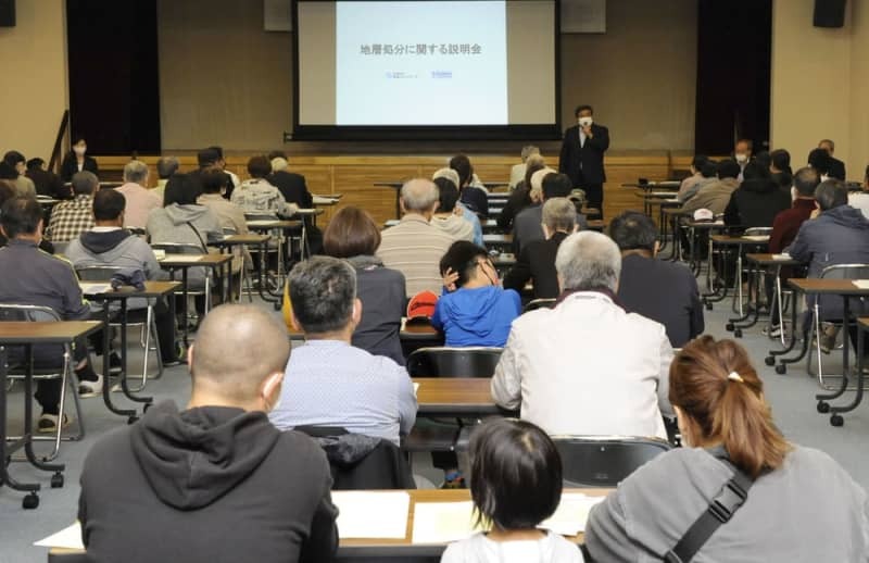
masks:
[[[503,348],[420,348],[407,358],[411,377],[492,377]]]

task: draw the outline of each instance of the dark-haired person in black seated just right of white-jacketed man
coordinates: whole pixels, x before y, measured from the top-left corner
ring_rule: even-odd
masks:
[[[684,264],[655,258],[659,245],[652,218],[627,211],[609,224],[609,236],[621,250],[618,299],[625,309],[663,324],[673,348],[702,334],[697,280]]]

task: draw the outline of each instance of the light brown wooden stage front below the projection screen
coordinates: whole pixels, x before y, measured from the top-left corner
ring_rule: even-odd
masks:
[[[248,177],[249,155],[227,157],[227,170]],[[477,175],[483,182],[506,182],[511,166],[517,163],[515,155],[470,155]],[[140,157],[151,168],[150,183],[156,185],[155,164],[159,157]],[[341,205],[357,205],[367,210],[378,223],[394,218],[395,193],[392,188],[374,186],[375,183],[402,182],[412,177],[431,177],[446,165],[449,157],[404,155],[298,155],[290,157],[290,170],[303,174],[308,189],[318,196],[343,193],[341,202],[326,208],[318,223],[323,226]],[[101,179],[121,179],[127,157],[97,157]],[[197,166],[196,157],[179,157],[181,171]],[[621,184],[635,183],[644,177],[650,180],[667,179],[673,170],[685,170],[691,155],[667,151],[625,151],[607,154],[605,165],[607,183],[604,187],[604,214],[613,217],[628,209],[642,209],[637,190],[626,189]],[[547,159],[547,164],[557,167],[557,160]]]

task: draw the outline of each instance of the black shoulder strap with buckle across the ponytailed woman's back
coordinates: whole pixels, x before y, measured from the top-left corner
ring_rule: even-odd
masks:
[[[676,547],[667,552],[664,556],[667,563],[689,563],[715,530],[730,522],[748,497],[748,489],[752,488],[754,479],[733,465],[730,460],[721,458],[718,460],[733,471],[733,477],[725,483],[709,506],[688,528]]]

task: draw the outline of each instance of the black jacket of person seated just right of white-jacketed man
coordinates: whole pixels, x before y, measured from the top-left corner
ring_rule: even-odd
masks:
[[[663,324],[673,348],[683,347],[705,328],[697,280],[683,264],[626,255],[618,299],[631,313]]]

